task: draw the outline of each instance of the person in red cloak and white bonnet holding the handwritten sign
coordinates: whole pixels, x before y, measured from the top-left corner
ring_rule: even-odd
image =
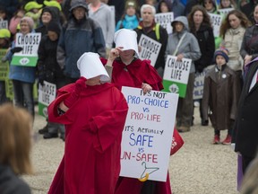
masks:
[[[121,29],[115,33],[116,48],[110,50],[108,59],[101,58],[107,71],[112,71],[112,83],[121,90],[122,86],[142,88],[143,93],[163,89],[162,79],[150,60],[138,58],[137,34],[135,31]],[[119,177],[116,194],[171,194],[169,176],[166,182],[139,181]]]

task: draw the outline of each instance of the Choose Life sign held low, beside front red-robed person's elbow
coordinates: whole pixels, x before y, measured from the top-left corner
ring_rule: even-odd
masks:
[[[56,84],[39,84],[39,115],[47,118],[47,106],[56,99]]]

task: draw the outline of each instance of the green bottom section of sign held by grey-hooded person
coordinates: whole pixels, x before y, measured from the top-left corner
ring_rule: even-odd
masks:
[[[178,93],[181,98],[185,98],[187,84],[163,80],[163,85],[163,92]]]

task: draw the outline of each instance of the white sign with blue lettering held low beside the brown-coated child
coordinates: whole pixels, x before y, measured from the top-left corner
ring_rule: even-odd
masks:
[[[193,100],[202,99],[205,72],[195,73],[193,86]]]

